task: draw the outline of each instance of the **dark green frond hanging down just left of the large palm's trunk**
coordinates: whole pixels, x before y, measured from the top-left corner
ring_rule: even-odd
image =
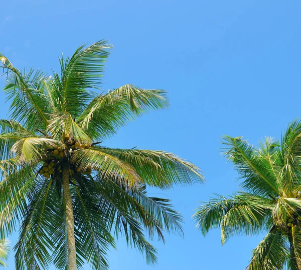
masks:
[[[21,224],[15,246],[17,269],[45,269],[51,263],[51,233],[55,232],[53,226],[58,214],[52,192],[55,192],[52,180],[41,179],[36,191],[29,197],[28,213]]]

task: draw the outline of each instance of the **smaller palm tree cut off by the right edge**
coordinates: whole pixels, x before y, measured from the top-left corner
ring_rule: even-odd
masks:
[[[266,231],[247,269],[301,269],[301,122],[290,123],[280,142],[266,137],[255,147],[224,136],[223,144],[242,190],[199,206],[197,226],[204,235],[221,228],[222,244],[230,236]]]

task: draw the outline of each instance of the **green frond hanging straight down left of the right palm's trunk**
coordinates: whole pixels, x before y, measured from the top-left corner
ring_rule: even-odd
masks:
[[[247,270],[282,270],[288,257],[288,249],[281,231],[271,229],[253,250]]]

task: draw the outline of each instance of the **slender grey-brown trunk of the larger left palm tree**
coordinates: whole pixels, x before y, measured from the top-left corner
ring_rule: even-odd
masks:
[[[69,270],[76,270],[76,250],[75,250],[75,237],[74,237],[74,216],[73,206],[71,200],[71,193],[69,187],[69,165],[68,163],[62,166],[63,173],[63,196],[66,211],[67,222],[67,243],[68,243],[68,262]]]

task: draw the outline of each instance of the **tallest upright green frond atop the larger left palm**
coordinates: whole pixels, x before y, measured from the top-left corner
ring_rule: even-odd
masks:
[[[78,116],[91,100],[90,88],[100,86],[104,62],[111,45],[100,40],[81,45],[71,57],[60,59],[61,74],[54,74],[52,100],[60,111]],[[92,95],[93,96],[93,95]]]

